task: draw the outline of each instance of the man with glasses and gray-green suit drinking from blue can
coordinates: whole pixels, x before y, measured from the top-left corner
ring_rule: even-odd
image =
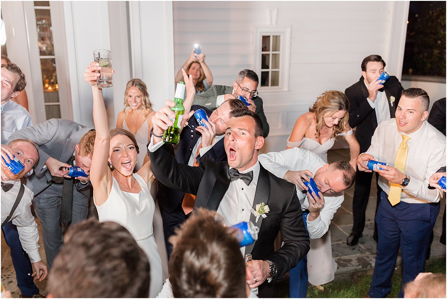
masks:
[[[203,94],[194,97],[193,105],[205,106],[208,109],[215,110],[222,105],[223,102],[228,101],[236,96],[244,97],[249,102],[249,110],[256,112],[262,120],[264,129],[264,138],[269,135],[270,126],[267,123],[264,108],[262,107],[262,98],[258,97],[257,84],[259,79],[257,74],[251,69],[244,69],[239,72],[234,81],[233,86],[212,85],[209,90]]]

